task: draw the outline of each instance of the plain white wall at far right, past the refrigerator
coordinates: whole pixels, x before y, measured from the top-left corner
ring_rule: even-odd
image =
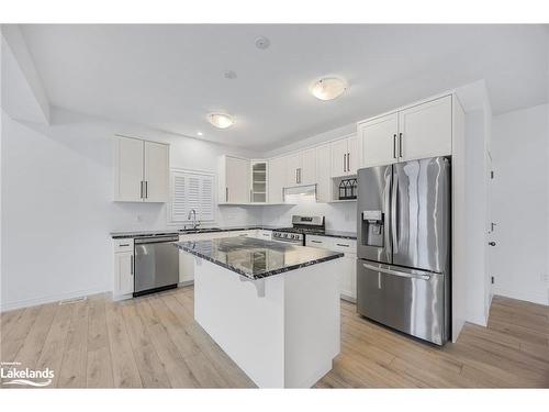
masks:
[[[493,291],[549,304],[548,105],[494,116],[492,216],[497,223]]]

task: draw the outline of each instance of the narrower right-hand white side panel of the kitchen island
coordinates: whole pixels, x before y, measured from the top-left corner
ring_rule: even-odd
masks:
[[[292,270],[284,282],[285,388],[311,388],[340,350],[340,259]]]

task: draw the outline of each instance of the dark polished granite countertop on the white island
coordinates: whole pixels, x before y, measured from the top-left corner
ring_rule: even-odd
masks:
[[[253,280],[344,256],[338,252],[251,237],[188,241],[176,246]]]

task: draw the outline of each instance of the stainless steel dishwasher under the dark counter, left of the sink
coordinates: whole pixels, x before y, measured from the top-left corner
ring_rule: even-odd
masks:
[[[179,282],[178,235],[138,237],[134,241],[134,297],[176,288]]]

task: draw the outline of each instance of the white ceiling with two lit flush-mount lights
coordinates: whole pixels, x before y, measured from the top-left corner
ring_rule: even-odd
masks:
[[[541,25],[22,25],[52,104],[272,149],[485,79],[494,113],[547,100]],[[267,36],[266,51],[255,38]],[[227,80],[225,70],[237,78]],[[320,101],[310,83],[343,76]],[[206,113],[226,111],[219,131]]]

